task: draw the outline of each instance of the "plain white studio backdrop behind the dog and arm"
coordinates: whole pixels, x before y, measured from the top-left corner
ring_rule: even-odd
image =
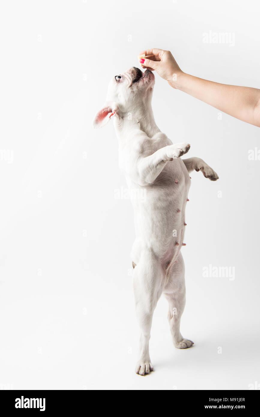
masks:
[[[220,179],[191,174],[181,332],[195,345],[173,347],[160,299],[150,340],[155,372],[146,377],[134,373],[133,210],[114,198],[125,180],[112,123],[92,129],[110,78],[138,66],[145,48],[171,50],[192,75],[259,88],[258,1],[37,0],[1,9],[0,387],[259,384],[260,161],[248,160],[260,148],[259,128],[155,74],[159,128],[189,142],[188,156],[203,158]],[[235,44],[203,43],[210,30],[234,33]],[[235,279],[203,278],[210,264],[234,266]]]

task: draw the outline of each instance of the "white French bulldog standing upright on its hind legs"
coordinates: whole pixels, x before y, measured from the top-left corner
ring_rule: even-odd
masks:
[[[203,171],[215,181],[218,175],[200,158],[182,160],[188,143],[173,144],[156,126],[151,107],[155,77],[150,70],[130,68],[112,78],[107,101],[93,122],[101,127],[113,116],[119,140],[119,165],[130,195],[142,188],[146,198],[134,198],[136,240],[132,249],[135,307],[141,329],[140,355],[135,372],[153,370],[149,354],[153,311],[163,293],[169,303],[168,319],[175,347],[193,342],[180,333],[185,306],[184,263],[180,249],[185,231],[189,172]],[[132,193],[131,193],[132,191]]]

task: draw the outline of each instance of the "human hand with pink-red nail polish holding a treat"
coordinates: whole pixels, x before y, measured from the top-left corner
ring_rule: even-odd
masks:
[[[183,73],[173,58],[170,51],[163,49],[147,49],[139,55],[145,54],[145,59],[140,59],[142,68],[149,68],[156,71],[160,77],[168,81],[173,88],[176,88],[178,77]]]

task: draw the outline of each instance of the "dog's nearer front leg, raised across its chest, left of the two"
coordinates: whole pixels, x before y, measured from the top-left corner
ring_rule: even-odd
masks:
[[[190,149],[189,143],[175,143],[158,149],[152,155],[140,158],[138,163],[138,179],[142,186],[152,184],[163,171],[168,161],[184,155]]]

